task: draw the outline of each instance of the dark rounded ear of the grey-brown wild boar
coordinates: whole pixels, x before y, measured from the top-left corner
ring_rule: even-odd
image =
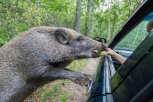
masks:
[[[57,29],[55,31],[55,38],[57,41],[59,41],[61,44],[67,44],[69,43],[69,34],[67,34],[63,29]]]

